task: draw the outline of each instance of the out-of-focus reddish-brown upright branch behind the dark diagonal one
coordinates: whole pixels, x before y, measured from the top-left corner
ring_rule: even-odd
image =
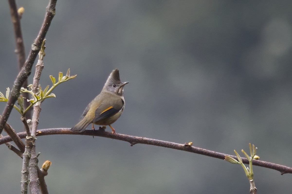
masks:
[[[10,6],[11,19],[14,26],[14,34],[15,34],[15,42],[16,49],[15,53],[18,55],[18,68],[21,71],[24,63],[25,63],[25,47],[23,44],[21,25],[20,25],[20,15],[18,14],[17,6],[15,0],[8,0]],[[22,87],[27,88],[27,80],[24,81]],[[23,93],[22,96],[26,99],[29,99],[28,93]],[[27,108],[29,106],[29,102],[24,102],[24,107]],[[27,118],[31,118],[31,111],[28,111],[26,114]]]

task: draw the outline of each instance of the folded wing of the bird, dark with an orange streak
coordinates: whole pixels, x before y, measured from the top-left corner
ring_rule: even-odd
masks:
[[[104,118],[108,118],[118,113],[124,106],[124,101],[120,97],[111,97],[111,99],[105,99],[100,107],[95,111],[95,117],[93,122],[97,122]]]

